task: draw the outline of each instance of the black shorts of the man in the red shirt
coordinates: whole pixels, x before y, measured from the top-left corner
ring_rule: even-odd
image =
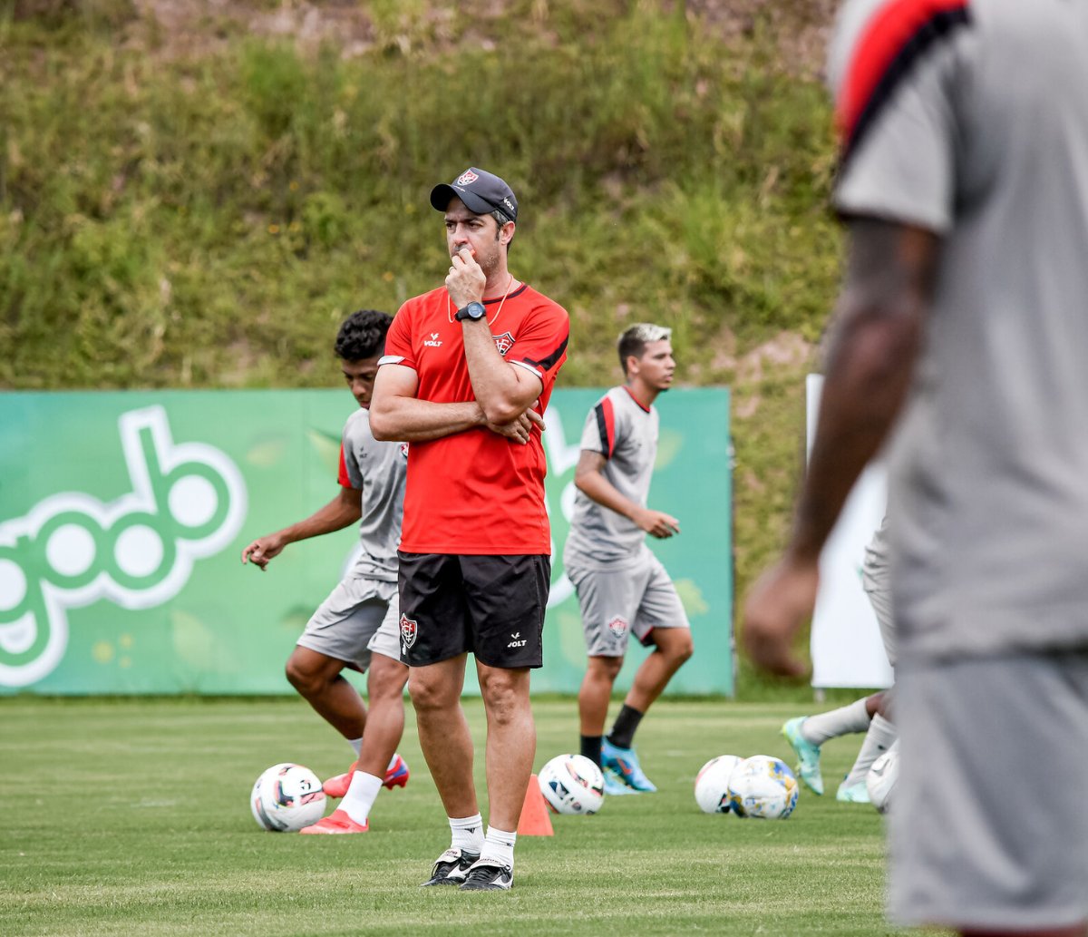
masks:
[[[399,553],[400,659],[424,667],[471,652],[489,667],[544,663],[552,557]]]

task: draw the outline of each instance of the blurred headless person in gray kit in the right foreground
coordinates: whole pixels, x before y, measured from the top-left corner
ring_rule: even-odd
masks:
[[[852,0],[830,77],[846,281],[792,535],[744,641],[804,671],[820,550],[894,424],[891,915],[1084,935],[1088,3]]]

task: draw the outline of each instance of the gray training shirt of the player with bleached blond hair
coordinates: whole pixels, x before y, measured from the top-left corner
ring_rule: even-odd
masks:
[[[590,410],[582,449],[606,459],[602,473],[625,497],[642,507],[657,458],[657,410],[644,407],[626,386],[613,387]],[[578,492],[570,521],[565,566],[617,568],[633,563],[646,546],[645,532],[621,514]]]

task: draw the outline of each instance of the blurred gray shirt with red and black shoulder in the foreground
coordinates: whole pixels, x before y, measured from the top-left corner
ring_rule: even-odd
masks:
[[[942,238],[891,448],[900,657],[1088,646],[1088,3],[852,0],[845,215]]]

